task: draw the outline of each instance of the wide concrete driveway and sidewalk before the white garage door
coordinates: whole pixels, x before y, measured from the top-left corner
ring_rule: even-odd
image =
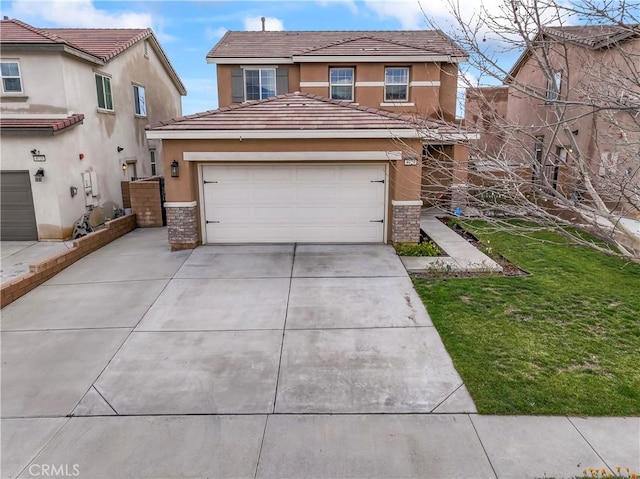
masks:
[[[634,454],[587,444],[609,423],[531,418],[532,452],[469,414],[385,245],[169,252],[138,229],[4,308],[1,338],[3,478],[569,476]]]

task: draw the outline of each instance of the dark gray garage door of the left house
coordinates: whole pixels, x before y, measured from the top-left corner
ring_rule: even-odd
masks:
[[[0,184],[0,233],[2,241],[38,239],[28,171],[3,171]]]

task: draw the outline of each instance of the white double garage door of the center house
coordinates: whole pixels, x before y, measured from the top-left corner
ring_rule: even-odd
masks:
[[[203,165],[207,243],[383,242],[384,164]]]

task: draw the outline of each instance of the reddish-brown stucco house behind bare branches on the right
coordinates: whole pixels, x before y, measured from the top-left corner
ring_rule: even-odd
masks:
[[[500,131],[499,153],[526,164],[524,179],[533,185],[565,198],[588,197],[574,166],[582,158],[611,207],[624,211],[629,206],[624,195],[635,195],[631,199],[638,205],[638,27],[545,27],[531,45],[507,76],[506,103],[504,90],[468,90],[466,119],[476,123],[481,138],[489,138],[479,143],[487,147],[486,156],[495,157],[492,142]],[[483,113],[497,113],[496,122],[487,127],[473,121]],[[626,212],[640,215],[637,206]]]

